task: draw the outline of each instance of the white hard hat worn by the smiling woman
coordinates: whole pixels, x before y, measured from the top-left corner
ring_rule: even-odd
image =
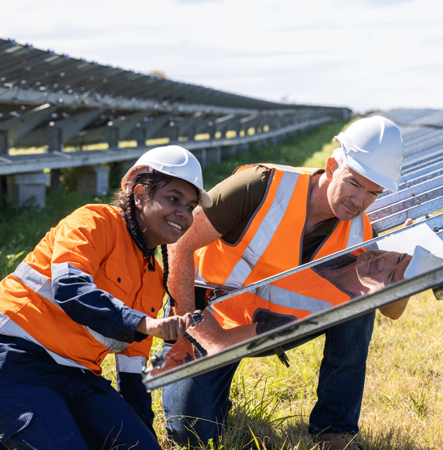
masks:
[[[122,190],[131,191],[136,176],[152,172],[152,169],[188,181],[200,191],[200,205],[212,206],[212,198],[203,189],[203,175],[197,158],[180,146],[157,147],[148,150],[136,161],[122,179]]]

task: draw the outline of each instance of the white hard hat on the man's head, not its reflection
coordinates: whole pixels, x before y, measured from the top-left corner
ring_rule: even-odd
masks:
[[[390,191],[399,190],[403,139],[394,122],[380,115],[366,117],[335,138],[355,172]]]

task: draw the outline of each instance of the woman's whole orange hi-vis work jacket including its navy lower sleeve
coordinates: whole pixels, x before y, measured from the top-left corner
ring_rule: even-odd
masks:
[[[120,209],[86,205],[66,217],[0,284],[0,333],[46,349],[58,364],[140,373],[152,337],[134,342],[143,316],[157,317],[162,269],[148,269]]]

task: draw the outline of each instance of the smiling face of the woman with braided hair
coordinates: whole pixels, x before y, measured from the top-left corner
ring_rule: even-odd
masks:
[[[179,178],[161,184],[150,198],[141,184],[134,188],[137,221],[148,248],[173,244],[193,223],[196,189]]]

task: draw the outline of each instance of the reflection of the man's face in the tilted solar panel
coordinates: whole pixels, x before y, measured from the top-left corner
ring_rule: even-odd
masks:
[[[403,279],[411,255],[386,250],[370,250],[357,257],[357,276],[360,283],[372,291]]]

